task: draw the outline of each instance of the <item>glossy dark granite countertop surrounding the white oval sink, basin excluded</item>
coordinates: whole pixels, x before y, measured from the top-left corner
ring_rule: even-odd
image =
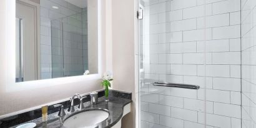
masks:
[[[86,110],[93,110],[93,109],[107,109],[109,111],[109,117],[97,124],[99,127],[112,127],[114,126],[118,121],[120,121],[120,119],[122,118],[122,114],[123,114],[123,109],[124,106],[126,106],[127,104],[129,104],[130,102],[132,102],[132,100],[130,99],[124,99],[121,97],[114,97],[114,96],[110,96],[109,97],[109,102],[106,102],[104,100],[104,97],[99,97],[99,101],[98,104],[95,106],[91,106],[89,102],[85,102],[84,106],[86,106]],[[78,106],[75,106],[75,109],[77,110]],[[66,112],[66,116],[64,118],[66,118],[67,116],[69,116],[69,112],[67,112],[67,109],[65,109]],[[60,118],[57,116],[58,112],[54,112],[52,114],[48,115],[48,119],[47,122],[42,122],[42,117],[39,117],[37,119],[34,119],[32,121],[28,121],[28,122],[34,122],[37,124],[36,127],[51,127],[51,128],[55,128],[55,127],[63,127],[61,125],[61,121]],[[22,124],[26,124],[28,122],[24,122]],[[19,124],[21,125],[21,124]],[[17,126],[19,126],[17,125]],[[17,127],[14,126],[14,127]]]

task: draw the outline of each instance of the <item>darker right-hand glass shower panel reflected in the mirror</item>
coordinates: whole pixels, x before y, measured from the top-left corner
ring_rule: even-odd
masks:
[[[82,47],[82,12],[63,17],[64,76],[84,73]]]

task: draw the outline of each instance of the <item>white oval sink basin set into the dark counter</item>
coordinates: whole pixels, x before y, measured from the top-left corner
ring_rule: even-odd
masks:
[[[80,112],[75,114],[71,117],[68,117],[64,123],[64,127],[96,127],[99,122],[102,122],[109,117],[109,112],[102,111],[102,110],[91,110]]]

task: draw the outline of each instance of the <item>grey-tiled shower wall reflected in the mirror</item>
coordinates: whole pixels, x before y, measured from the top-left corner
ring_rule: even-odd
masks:
[[[40,2],[41,79],[82,75],[88,63],[87,8],[64,0]]]

